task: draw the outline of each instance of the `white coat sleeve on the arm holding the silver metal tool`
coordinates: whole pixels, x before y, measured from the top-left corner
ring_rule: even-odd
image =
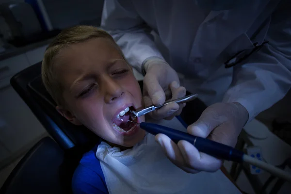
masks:
[[[147,58],[163,59],[150,34],[152,29],[137,14],[131,0],[105,0],[101,28],[113,36],[129,64],[139,72]]]

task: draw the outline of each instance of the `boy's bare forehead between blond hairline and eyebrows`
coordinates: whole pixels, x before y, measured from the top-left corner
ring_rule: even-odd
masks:
[[[116,60],[124,60],[113,43],[105,38],[70,45],[58,58],[57,71],[63,82],[71,82],[82,74],[103,70]]]

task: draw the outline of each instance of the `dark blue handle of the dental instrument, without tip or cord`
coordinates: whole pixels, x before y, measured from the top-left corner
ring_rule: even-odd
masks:
[[[226,146],[209,139],[196,137],[190,135],[189,133],[154,123],[142,122],[140,123],[140,127],[152,135],[157,135],[159,133],[165,134],[175,143],[178,143],[180,140],[186,140],[193,144],[198,149],[198,151],[209,154],[213,157],[228,161],[242,162],[243,152],[234,149],[231,146]]]

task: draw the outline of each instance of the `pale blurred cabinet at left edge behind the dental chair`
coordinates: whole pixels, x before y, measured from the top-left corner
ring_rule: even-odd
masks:
[[[43,126],[10,85],[13,75],[42,61],[46,47],[0,61],[0,168],[26,152],[46,134]]]

